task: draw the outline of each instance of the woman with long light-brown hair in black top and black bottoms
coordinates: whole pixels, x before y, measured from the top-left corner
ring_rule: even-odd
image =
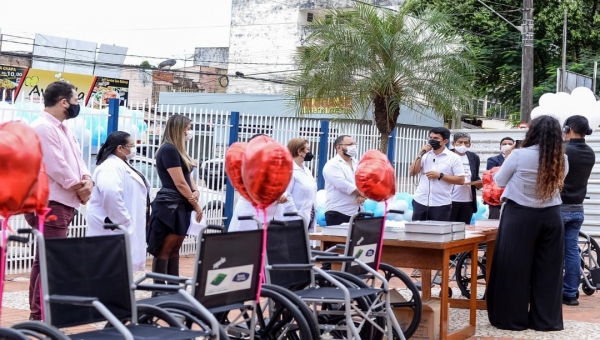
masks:
[[[154,256],[152,271],[155,273],[179,275],[179,249],[190,226],[192,211],[196,211],[198,223],[202,220],[199,194],[191,176],[195,163],[185,150],[186,141],[194,136],[191,127],[189,118],[171,116],[156,152],[156,171],[162,188],[152,201],[147,234],[148,252]]]

